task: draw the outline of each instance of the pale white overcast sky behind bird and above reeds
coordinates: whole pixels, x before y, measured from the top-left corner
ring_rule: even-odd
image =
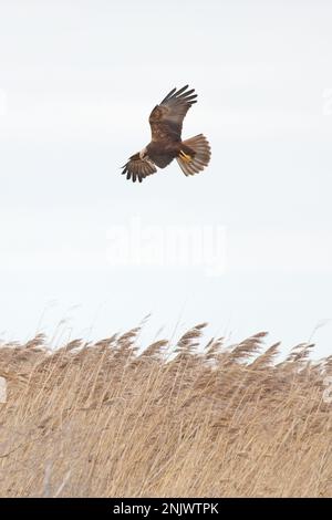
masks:
[[[0,0],[0,337],[101,339],[152,312],[143,342],[208,321],[289,347],[320,324],[331,353],[331,22],[328,0]],[[127,181],[187,83],[183,135],[210,166]]]

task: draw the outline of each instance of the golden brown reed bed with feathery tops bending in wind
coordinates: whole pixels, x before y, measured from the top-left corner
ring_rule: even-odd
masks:
[[[176,356],[166,341],[138,355],[139,329],[53,353],[42,335],[2,345],[0,495],[331,496],[332,356],[314,364],[302,344],[277,362],[264,333],[203,349],[204,326]]]

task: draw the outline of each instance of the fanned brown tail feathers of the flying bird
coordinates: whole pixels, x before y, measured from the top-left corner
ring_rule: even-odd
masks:
[[[195,175],[201,171],[211,157],[211,149],[207,138],[203,135],[195,135],[190,139],[183,141],[176,160],[185,175]]]

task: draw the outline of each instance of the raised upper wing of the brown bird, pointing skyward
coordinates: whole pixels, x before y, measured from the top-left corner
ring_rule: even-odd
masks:
[[[177,141],[181,136],[183,121],[190,106],[197,102],[195,90],[188,85],[173,89],[162,103],[152,111],[149,124],[152,141]]]

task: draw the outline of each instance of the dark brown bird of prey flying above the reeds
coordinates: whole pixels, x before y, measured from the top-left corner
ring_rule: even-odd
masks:
[[[149,115],[152,141],[137,154],[132,155],[122,167],[123,175],[133,183],[165,168],[176,159],[185,175],[195,175],[208,165],[210,146],[203,134],[181,141],[183,121],[190,106],[197,102],[195,90],[173,89],[154,107]]]

